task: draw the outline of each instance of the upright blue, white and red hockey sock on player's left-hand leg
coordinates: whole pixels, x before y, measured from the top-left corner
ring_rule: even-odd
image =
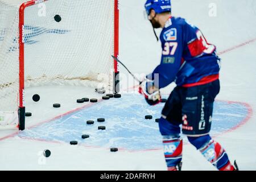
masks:
[[[177,171],[177,166],[179,166],[182,159],[182,139],[177,136],[165,136],[163,145],[168,170]]]

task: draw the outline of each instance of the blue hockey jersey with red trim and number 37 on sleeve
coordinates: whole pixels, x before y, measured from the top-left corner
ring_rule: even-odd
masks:
[[[164,88],[175,81],[178,86],[203,85],[218,79],[220,59],[199,28],[183,18],[171,17],[161,34],[162,59],[148,78]],[[157,75],[155,75],[157,74]],[[156,79],[156,76],[159,78]]]

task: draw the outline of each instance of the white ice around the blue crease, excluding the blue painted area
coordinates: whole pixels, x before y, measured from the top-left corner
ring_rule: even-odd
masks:
[[[198,26],[208,42],[216,44],[218,52],[256,38],[254,0],[172,2],[174,15],[183,16]],[[120,1],[120,59],[134,73],[151,72],[159,63],[160,56],[160,44],[156,43],[151,25],[143,18],[143,3],[137,0]],[[208,16],[209,3],[216,3],[216,17]],[[256,42],[251,42],[221,55],[221,92],[217,99],[246,102],[253,108],[251,118],[245,125],[215,138],[225,147],[229,158],[232,161],[237,160],[241,170],[256,170],[255,49]],[[126,74],[122,68],[121,72]],[[131,79],[129,84],[123,84],[123,88],[131,86],[134,86]],[[162,92],[170,93],[172,86]],[[51,94],[55,92],[52,88],[36,89],[26,92],[28,109],[38,115],[36,118],[27,119],[28,127],[80,107],[74,102],[76,98],[100,97],[86,88],[59,88],[56,92],[60,94],[55,97]],[[35,92],[42,96],[40,105],[43,106],[31,101],[31,94]],[[68,93],[73,94],[73,97],[67,97]],[[49,109],[53,102],[61,102],[62,110]],[[0,138],[15,131],[0,130]],[[71,147],[69,144],[39,142],[16,136],[0,140],[0,148],[0,169],[7,170],[166,170],[162,150],[119,151],[113,154],[102,148]],[[42,151],[46,148],[51,150],[52,155],[45,160]],[[186,144],[183,148],[183,170],[215,169],[191,144]]]

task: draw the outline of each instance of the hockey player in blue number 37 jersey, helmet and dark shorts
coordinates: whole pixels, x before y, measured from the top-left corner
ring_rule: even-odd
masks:
[[[210,135],[214,98],[220,92],[220,58],[199,28],[183,18],[171,16],[170,0],[147,0],[148,20],[160,34],[162,59],[139,87],[148,104],[160,102],[159,89],[172,82],[172,91],[162,110],[159,130],[163,135],[164,156],[168,170],[181,169],[182,132],[204,157],[220,171],[238,170],[226,151]]]

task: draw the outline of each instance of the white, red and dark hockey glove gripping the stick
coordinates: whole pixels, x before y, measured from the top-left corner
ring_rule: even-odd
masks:
[[[144,80],[139,85],[139,93],[145,97],[147,104],[151,106],[159,104],[161,101],[159,89],[155,88],[154,81],[152,80]]]

